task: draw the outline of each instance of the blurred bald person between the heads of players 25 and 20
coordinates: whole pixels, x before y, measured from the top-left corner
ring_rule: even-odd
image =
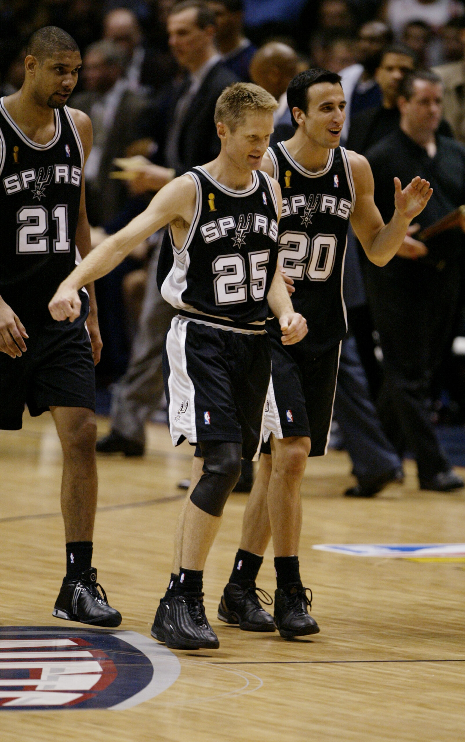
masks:
[[[252,82],[265,88],[279,103],[279,108],[273,114],[274,132],[271,134],[270,144],[294,136],[286,91],[289,82],[297,74],[298,62],[299,57],[294,49],[280,42],[269,42],[260,47],[252,59]]]

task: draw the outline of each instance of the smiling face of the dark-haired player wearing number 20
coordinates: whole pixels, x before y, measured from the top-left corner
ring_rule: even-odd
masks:
[[[317,82],[307,91],[306,112],[294,108],[297,124],[312,144],[326,149],[339,146],[340,132],[346,120],[346,99],[337,82]]]

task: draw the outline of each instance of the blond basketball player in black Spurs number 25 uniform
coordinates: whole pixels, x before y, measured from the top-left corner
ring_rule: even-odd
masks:
[[[253,459],[260,445],[271,371],[268,304],[284,345],[306,334],[277,270],[280,187],[258,170],[276,108],[257,85],[226,88],[215,111],[217,159],[165,185],[143,214],[82,261],[49,305],[57,320],[74,321],[79,288],[169,224],[174,263],[162,296],[179,310],[165,342],[169,424],[174,444],[188,439],[200,455],[178,524],[176,585],[153,628],[174,649],[219,646],[205,616],[202,574],[241,457]]]

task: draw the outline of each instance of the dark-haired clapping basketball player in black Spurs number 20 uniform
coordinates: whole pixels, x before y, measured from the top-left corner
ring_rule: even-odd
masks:
[[[218,618],[247,631],[274,631],[286,639],[320,631],[308,613],[300,579],[300,483],[307,456],[323,456],[329,441],[340,341],[346,335],[342,295],[349,220],[369,260],[383,266],[398,252],[413,217],[432,189],[414,178],[403,191],[395,179],[395,213],[387,226],[373,200],[367,160],[339,146],[345,119],[340,76],[319,68],[298,74],[288,87],[294,137],[268,149],[262,169],[283,191],[279,264],[294,284],[295,309],[309,333],[294,346],[271,337],[272,373],[265,413],[265,443],[243,519],[243,535],[225,586]],[[277,590],[274,622],[255,592],[266,546],[273,538]]]

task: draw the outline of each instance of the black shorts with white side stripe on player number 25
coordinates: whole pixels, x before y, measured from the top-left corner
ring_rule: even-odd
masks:
[[[237,442],[244,459],[257,459],[270,372],[266,332],[233,332],[174,317],[163,353],[174,445],[185,439]]]

